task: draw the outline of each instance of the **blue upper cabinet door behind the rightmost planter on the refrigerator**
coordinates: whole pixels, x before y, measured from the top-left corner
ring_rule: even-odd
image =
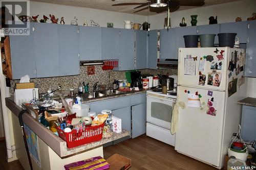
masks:
[[[246,43],[248,21],[221,23],[220,33],[237,33],[239,43]]]

